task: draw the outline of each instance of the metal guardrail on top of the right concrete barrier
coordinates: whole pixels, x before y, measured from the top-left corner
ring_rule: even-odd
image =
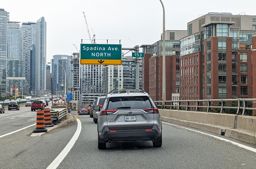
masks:
[[[211,103],[219,103],[220,106],[214,106]],[[226,106],[228,102],[237,102],[237,106],[229,107]],[[248,107],[248,102],[256,102],[256,99],[206,99],[206,100],[168,100],[165,101],[154,101],[158,107],[162,109],[170,108],[176,110],[182,110],[182,107],[186,111],[190,111],[191,107],[194,107],[195,111],[206,109],[206,112],[212,112],[212,108],[220,108],[220,113],[225,113],[225,109],[236,109],[237,115],[249,115],[248,110],[256,110],[256,108]],[[205,111],[204,111],[205,112]]]

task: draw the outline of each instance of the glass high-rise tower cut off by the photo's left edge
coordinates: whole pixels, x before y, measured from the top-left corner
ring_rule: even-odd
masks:
[[[9,13],[0,9],[0,94],[7,95],[7,25]]]

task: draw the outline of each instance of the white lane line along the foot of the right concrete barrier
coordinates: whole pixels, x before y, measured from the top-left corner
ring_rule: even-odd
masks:
[[[252,152],[256,152],[256,149],[255,149],[255,148],[252,148],[252,147],[249,147],[249,146],[246,146],[246,145],[243,145],[243,144],[240,144],[240,143],[237,143],[237,142],[234,142],[234,141],[231,141],[231,140],[222,138],[222,137],[218,137],[218,136],[215,136],[215,135],[207,134],[207,133],[205,133],[205,132],[193,130],[193,129],[190,129],[190,128],[187,128],[187,127],[183,127],[183,126],[180,126],[180,125],[171,124],[171,123],[168,123],[168,122],[163,122],[163,123],[164,123],[164,124],[167,124],[167,125],[174,126],[174,127],[184,128],[184,129],[186,129],[186,130],[190,130],[190,131],[197,132],[197,133],[200,133],[200,134],[208,135],[208,136],[210,136],[210,137],[214,137],[214,138],[216,138],[216,139],[229,142],[229,143],[231,143],[231,144],[237,145],[238,147],[242,147],[242,148],[247,149],[247,150],[250,150],[250,151],[252,151]]]

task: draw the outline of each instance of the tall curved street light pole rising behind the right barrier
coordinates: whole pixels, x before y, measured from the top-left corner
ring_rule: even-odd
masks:
[[[165,68],[165,7],[163,2],[160,0],[162,7],[163,7],[163,76],[162,76],[162,105],[165,107],[165,100],[166,100],[166,68]]]

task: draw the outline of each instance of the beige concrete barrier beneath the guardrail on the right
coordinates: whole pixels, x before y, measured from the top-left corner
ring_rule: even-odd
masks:
[[[256,117],[224,113],[159,109],[163,121],[256,144]]]

